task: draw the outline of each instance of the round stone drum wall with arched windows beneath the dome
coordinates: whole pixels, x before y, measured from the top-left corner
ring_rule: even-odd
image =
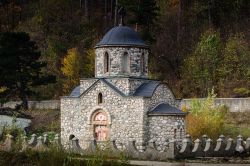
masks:
[[[110,71],[104,73],[104,55],[105,52],[110,57]],[[129,73],[122,71],[122,57],[127,52],[130,57],[129,62]],[[131,47],[104,47],[97,48],[95,61],[96,77],[107,77],[107,76],[148,76],[148,50],[142,48],[131,48]],[[144,72],[141,72],[141,55],[144,54]]]

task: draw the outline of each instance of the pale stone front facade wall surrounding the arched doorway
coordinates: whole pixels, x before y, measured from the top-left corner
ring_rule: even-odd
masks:
[[[97,95],[103,94],[103,103],[97,104]],[[63,99],[62,137],[67,142],[70,134],[80,140],[86,147],[87,141],[93,139],[91,117],[97,110],[103,110],[109,117],[110,140],[126,143],[129,139],[143,141],[143,101],[140,97],[122,97],[103,82],[98,82],[93,89],[80,99],[80,110],[72,111],[73,100]],[[74,105],[74,103],[73,103]]]

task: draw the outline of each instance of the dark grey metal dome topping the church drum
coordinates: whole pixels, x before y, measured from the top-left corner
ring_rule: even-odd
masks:
[[[127,26],[116,26],[109,30],[96,47],[105,46],[139,46],[147,47],[139,34]]]

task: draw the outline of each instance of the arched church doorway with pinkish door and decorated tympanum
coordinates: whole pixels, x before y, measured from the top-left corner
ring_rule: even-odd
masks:
[[[94,138],[97,141],[107,141],[109,139],[107,114],[102,110],[98,110],[93,114],[92,124],[94,128]]]

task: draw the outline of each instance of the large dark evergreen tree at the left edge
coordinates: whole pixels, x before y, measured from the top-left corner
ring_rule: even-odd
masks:
[[[34,93],[31,88],[55,81],[54,76],[42,73],[46,63],[39,61],[40,56],[36,43],[27,33],[0,34],[0,87],[7,88],[2,97],[19,97],[27,109],[28,96]]]

